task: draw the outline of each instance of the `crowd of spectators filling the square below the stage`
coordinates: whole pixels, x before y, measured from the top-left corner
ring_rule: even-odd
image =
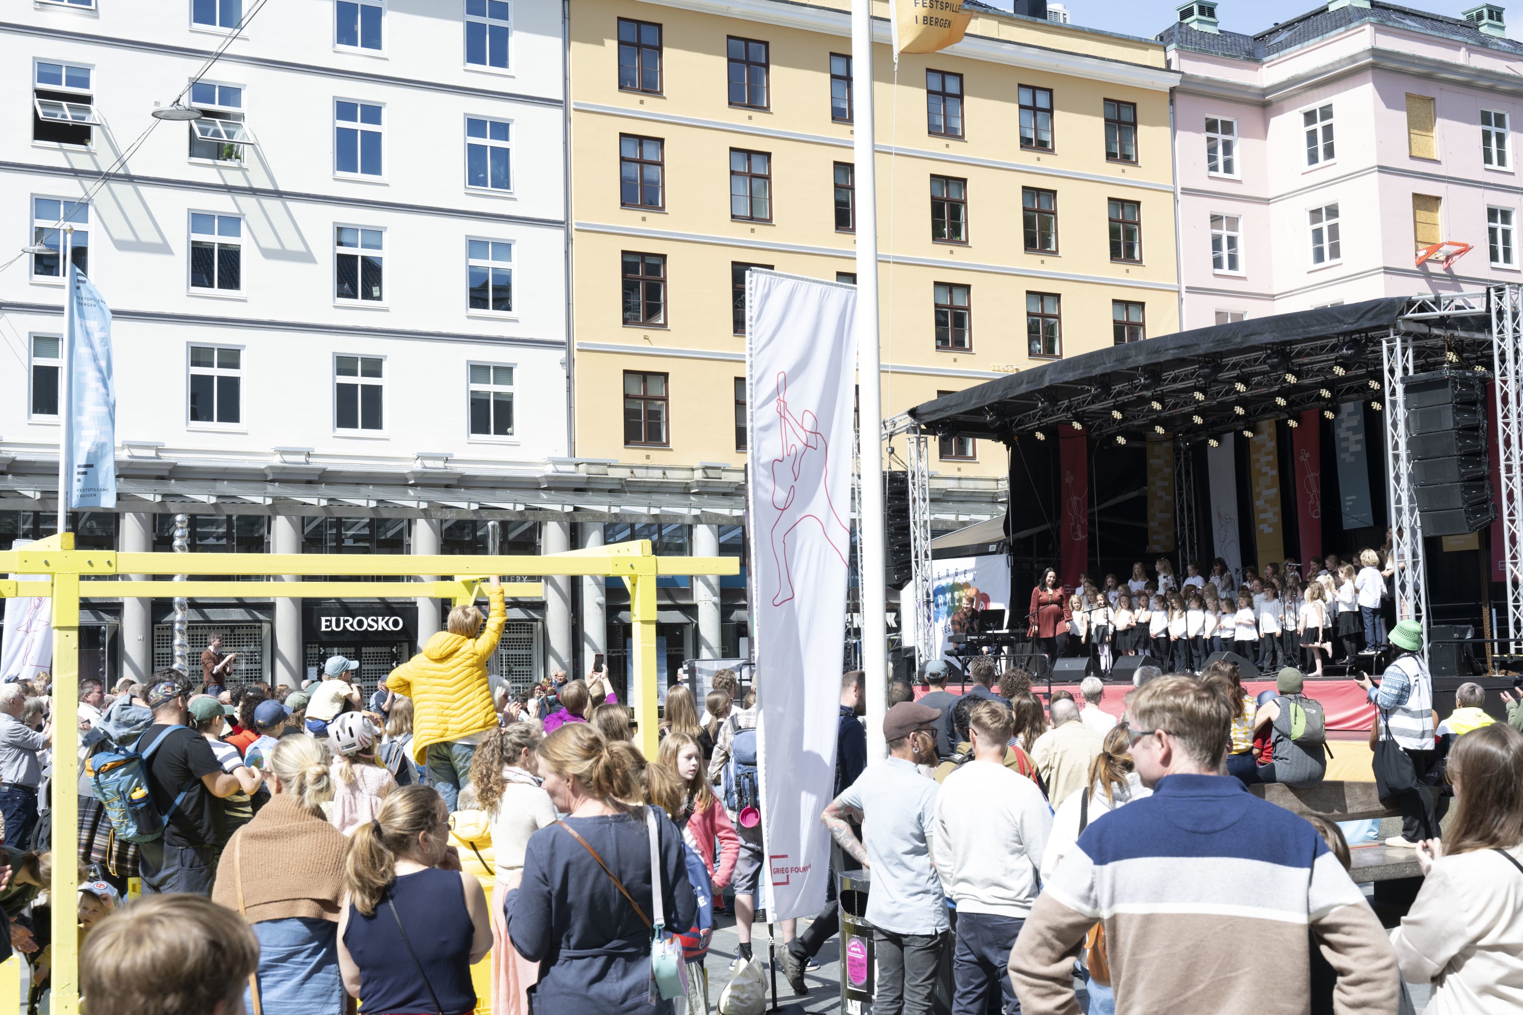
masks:
[[[757,689],[731,671],[702,703],[669,688],[646,758],[606,668],[493,694],[504,616],[493,581],[486,616],[457,607],[369,698],[343,657],[306,688],[230,688],[215,645],[196,682],[82,682],[87,1010],[711,1010],[710,972],[739,982],[758,962]],[[1246,791],[1325,773],[1293,667],[1255,698],[1231,662],[1142,667],[1121,695],[1097,677],[1042,695],[988,656],[955,692],[929,662],[923,686],[889,689],[882,764],[868,685],[844,674],[821,820],[833,870],[871,873],[874,1012],[1071,1012],[1075,971],[1094,1015],[1395,1010],[1398,968],[1433,985],[1432,1012],[1518,1010],[1523,705],[1493,721],[1465,685],[1439,721],[1412,627],[1378,632],[1389,659],[1378,683],[1362,677],[1372,741],[1412,773],[1383,790],[1426,873],[1389,937],[1339,826]],[[34,1000],[56,905],[46,692],[0,688],[0,945],[27,957]],[[161,829],[123,837],[129,794],[110,775],[134,758]],[[723,971],[705,963],[722,908],[737,937]],[[804,994],[838,905],[777,930]],[[678,986],[653,980],[663,937]]]

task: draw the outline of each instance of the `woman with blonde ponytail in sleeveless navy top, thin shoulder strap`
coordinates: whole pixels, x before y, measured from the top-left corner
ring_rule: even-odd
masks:
[[[471,966],[492,948],[486,893],[449,849],[449,811],[433,787],[393,791],[344,849],[338,962],[367,1015],[477,1007]]]

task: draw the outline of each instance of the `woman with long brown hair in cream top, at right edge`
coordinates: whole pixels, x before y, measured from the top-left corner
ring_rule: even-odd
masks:
[[[1390,931],[1401,975],[1432,983],[1427,1015],[1523,1010],[1523,733],[1462,735],[1448,758],[1458,800],[1442,842],[1418,843],[1422,887]]]

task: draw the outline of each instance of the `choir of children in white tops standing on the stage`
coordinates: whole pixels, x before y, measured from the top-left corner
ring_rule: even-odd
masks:
[[[1167,557],[1148,575],[1141,560],[1132,575],[1081,574],[1065,587],[1051,568],[1031,590],[1028,636],[1049,660],[1089,659],[1107,674],[1121,656],[1151,656],[1170,673],[1200,673],[1214,653],[1231,651],[1261,670],[1295,667],[1313,677],[1325,667],[1357,670],[1387,647],[1394,625],[1390,546],[1363,549],[1352,560],[1328,554],[1267,563],[1263,574],[1234,577],[1217,557],[1205,574],[1194,560],[1185,575]],[[1365,660],[1362,660],[1365,654]]]

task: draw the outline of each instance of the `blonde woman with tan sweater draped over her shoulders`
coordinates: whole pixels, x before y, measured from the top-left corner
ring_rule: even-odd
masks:
[[[242,913],[259,939],[259,971],[244,1007],[262,1015],[343,1015],[338,912],[344,837],[327,823],[334,799],[327,749],[286,737],[265,758],[270,802],[233,832],[212,899]],[[299,863],[292,863],[292,857]]]

